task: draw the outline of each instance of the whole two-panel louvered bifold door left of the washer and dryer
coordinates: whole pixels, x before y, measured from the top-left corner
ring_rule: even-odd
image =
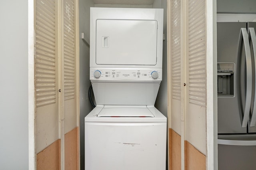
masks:
[[[35,2],[37,168],[78,169],[77,7]]]

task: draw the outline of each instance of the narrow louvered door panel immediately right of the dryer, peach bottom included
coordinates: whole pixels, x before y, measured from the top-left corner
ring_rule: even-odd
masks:
[[[181,169],[182,165],[182,35],[181,0],[170,0],[170,72],[171,107],[169,126],[170,170]]]

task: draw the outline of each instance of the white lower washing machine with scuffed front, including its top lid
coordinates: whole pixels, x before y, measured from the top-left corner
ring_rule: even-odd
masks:
[[[154,106],[97,105],[84,128],[86,170],[165,170],[166,117]]]

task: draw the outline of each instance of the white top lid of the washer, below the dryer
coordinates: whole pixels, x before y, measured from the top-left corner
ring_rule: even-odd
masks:
[[[146,106],[104,106],[97,117],[154,117]]]

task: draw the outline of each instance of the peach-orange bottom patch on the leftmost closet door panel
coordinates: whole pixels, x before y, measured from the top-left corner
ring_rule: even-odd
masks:
[[[60,139],[37,154],[37,170],[60,170]]]

